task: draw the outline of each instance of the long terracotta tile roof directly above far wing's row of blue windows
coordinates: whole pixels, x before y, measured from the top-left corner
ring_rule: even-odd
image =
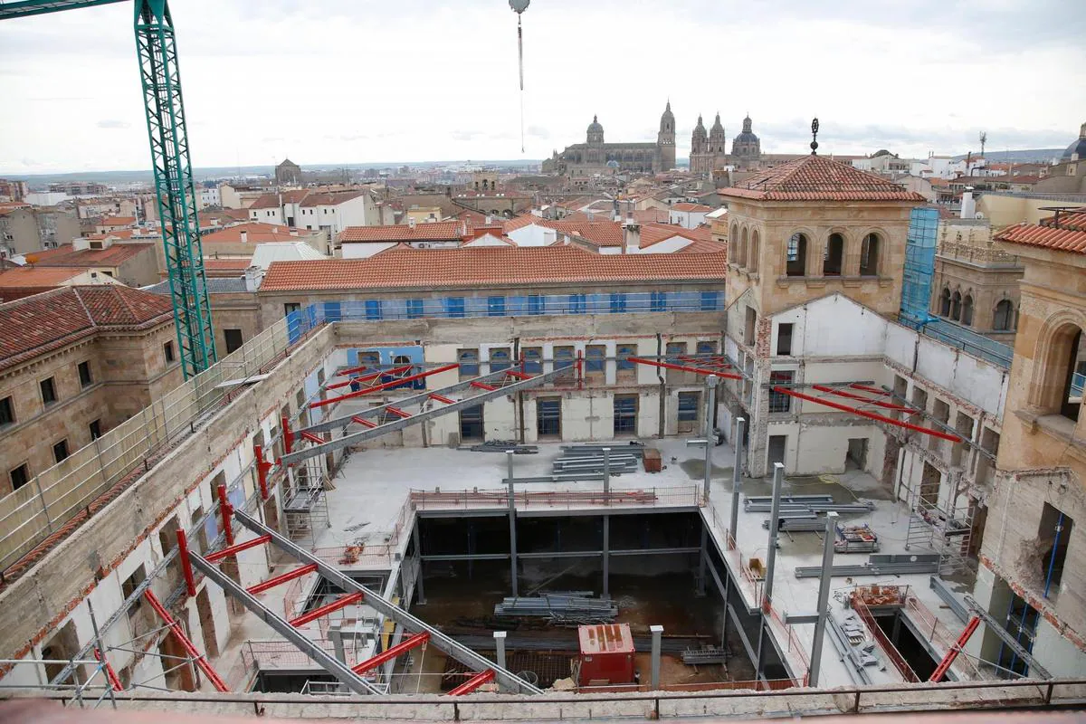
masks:
[[[485,285],[720,281],[724,255],[595,254],[576,246],[390,249],[365,259],[276,262],[261,293]]]

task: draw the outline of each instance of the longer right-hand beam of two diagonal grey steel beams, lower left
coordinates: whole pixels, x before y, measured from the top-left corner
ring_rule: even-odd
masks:
[[[510,689],[516,694],[542,694],[542,690],[539,687],[529,684],[528,682],[523,681],[522,678],[520,678],[510,671],[506,671],[505,669],[500,669],[495,666],[494,663],[491,662],[489,659],[479,656],[478,653],[467,648],[466,646],[457,644],[455,640],[453,640],[442,632],[438,631],[430,624],[426,623],[421,619],[412,615],[409,612],[403,610],[402,608],[399,608],[397,606],[392,604],[392,601],[382,597],[380,594],[370,590],[361,583],[346,576],[338,568],[329,566],[321,559],[315,557],[305,548],[295,545],[294,542],[291,541],[290,538],[280,535],[278,532],[273,531],[272,529],[262,524],[255,518],[252,518],[251,516],[248,516],[247,513],[237,510],[235,511],[233,515],[241,522],[241,524],[248,528],[250,531],[253,531],[257,535],[270,536],[272,542],[275,545],[279,546],[280,548],[292,555],[298,560],[303,561],[305,563],[313,563],[314,566],[316,566],[317,572],[319,572],[320,575],[328,579],[328,581],[330,581],[331,583],[338,585],[344,593],[349,592],[361,593],[365,597],[366,604],[370,608],[376,610],[378,613],[381,613],[382,615],[392,619],[393,621],[395,621],[401,626],[403,626],[404,628],[406,628],[412,633],[420,633],[424,631],[429,633],[430,643],[433,644],[435,648],[440,649],[441,651],[444,651],[445,653],[456,659],[464,665],[470,668],[472,671],[481,672],[485,671],[487,669],[493,669],[494,677],[497,679],[497,683],[503,687],[505,687],[506,689]]]

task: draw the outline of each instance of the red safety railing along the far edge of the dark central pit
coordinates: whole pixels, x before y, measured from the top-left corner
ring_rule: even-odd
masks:
[[[508,507],[506,490],[412,491],[411,504],[417,510],[466,510],[471,508]],[[518,491],[514,505],[519,508],[584,508],[597,506],[697,506],[696,485],[667,487],[610,488],[604,491]]]

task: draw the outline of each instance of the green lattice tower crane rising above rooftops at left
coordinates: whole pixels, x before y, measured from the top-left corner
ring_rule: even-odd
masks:
[[[124,1],[0,1],[0,20]],[[215,333],[211,323],[211,303],[203,268],[200,224],[197,220],[177,43],[166,0],[136,0],[134,25],[177,346],[181,369],[188,379],[215,364]]]

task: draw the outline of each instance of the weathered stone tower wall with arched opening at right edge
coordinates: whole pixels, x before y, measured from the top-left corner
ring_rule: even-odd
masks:
[[[1086,256],[1005,250],[1025,275],[976,598],[999,621],[1024,618],[1033,653],[1071,676],[1086,666],[1086,572],[1073,562],[1086,551],[1086,414],[1068,386],[1086,330]],[[999,644],[985,634],[984,657],[998,660]]]

